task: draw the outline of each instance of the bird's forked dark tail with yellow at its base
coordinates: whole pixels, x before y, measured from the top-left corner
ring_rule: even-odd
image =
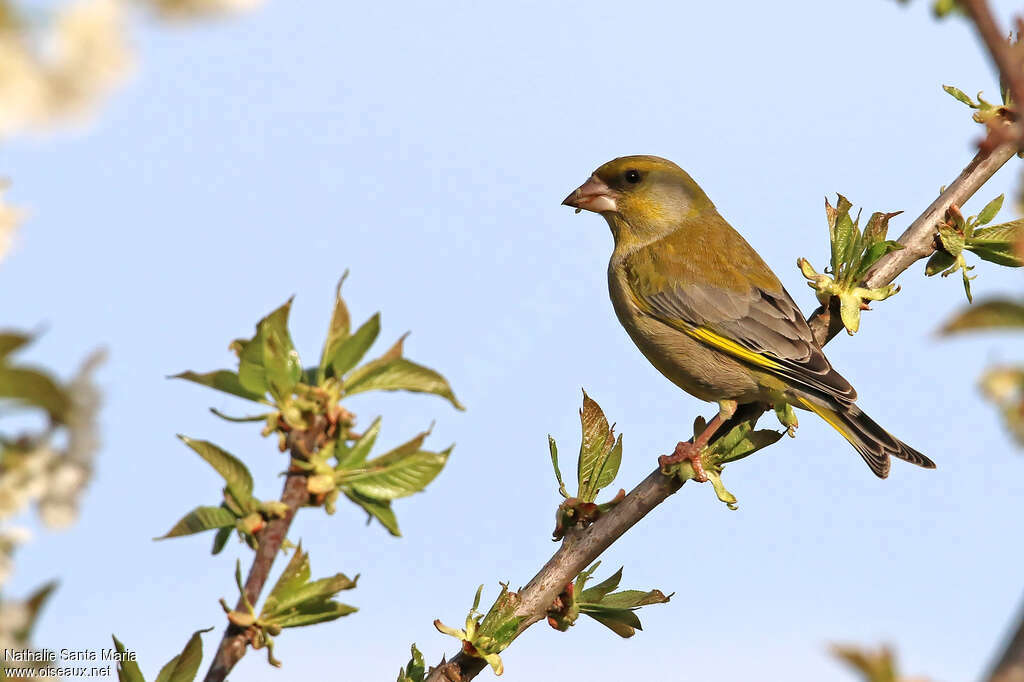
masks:
[[[893,436],[853,403],[842,404],[834,400],[826,403],[820,398],[810,397],[800,397],[799,400],[842,433],[879,478],[889,475],[890,455],[919,467],[935,468],[935,462]]]

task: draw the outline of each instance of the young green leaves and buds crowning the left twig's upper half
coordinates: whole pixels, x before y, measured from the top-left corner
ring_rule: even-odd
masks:
[[[377,519],[388,532],[398,536],[391,502],[422,491],[443,468],[452,449],[424,450],[422,444],[429,434],[426,431],[371,458],[381,419],[378,417],[364,433],[357,434],[352,430],[354,416],[341,406],[341,400],[371,390],[403,390],[439,395],[459,410],[463,409],[462,403],[440,374],[404,357],[406,336],[381,356],[362,363],[380,334],[380,313],[352,331],[348,307],[341,297],[341,283],[335,294],[321,361],[315,367],[303,368],[288,328],[291,304],[289,300],[260,319],[251,339],[231,343],[239,360],[237,371],[189,371],[174,378],[270,407],[270,412],[253,417],[214,413],[229,421],[264,421],[264,435],[276,433],[280,449],[292,450],[290,468],[305,474],[308,504],[334,513],[338,497],[344,495],[367,512],[368,521]],[[248,480],[249,487],[247,495],[242,495],[245,500],[240,500],[236,489],[239,481],[228,482],[231,489],[225,488],[225,501],[220,507],[197,508],[165,537],[219,528],[214,544],[216,552],[223,547],[230,527],[234,527],[250,546],[255,546],[254,534],[280,510],[252,499],[252,476],[236,458],[212,443],[190,439],[185,442],[190,446],[203,442],[206,451],[219,451],[219,460],[230,458],[231,471]],[[218,472],[223,474],[221,469]]]

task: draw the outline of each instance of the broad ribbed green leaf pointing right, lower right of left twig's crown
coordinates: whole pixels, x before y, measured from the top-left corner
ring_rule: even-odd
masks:
[[[373,500],[403,498],[426,487],[444,468],[451,452],[451,447],[440,453],[417,451],[398,458],[389,453],[367,462],[365,469],[344,473],[338,482]]]

